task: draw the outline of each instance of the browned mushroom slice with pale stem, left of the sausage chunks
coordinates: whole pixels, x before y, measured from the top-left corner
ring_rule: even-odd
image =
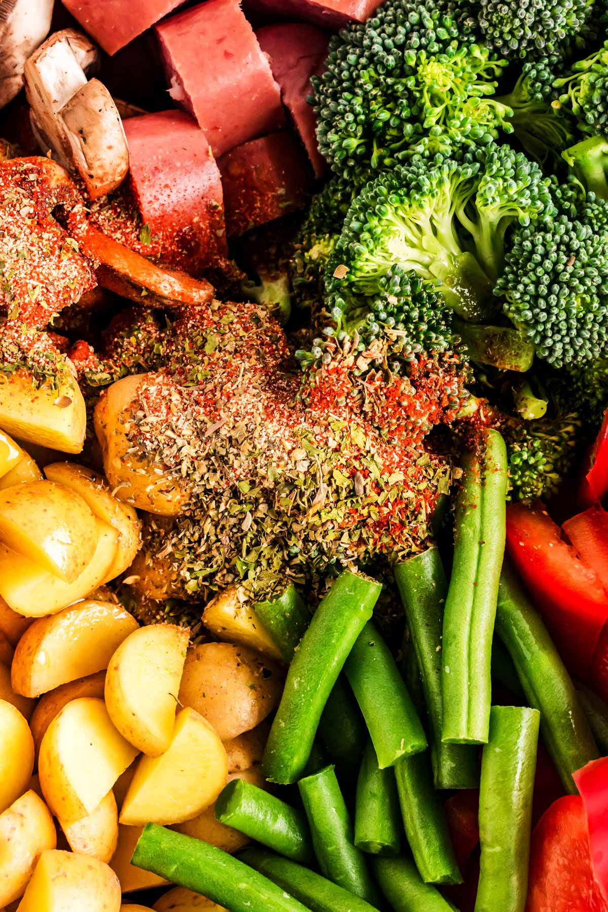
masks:
[[[115,190],[129,171],[129,150],[108,89],[88,71],[98,48],[73,28],[50,36],[26,61],[32,127],[43,151],[77,171],[91,200]]]

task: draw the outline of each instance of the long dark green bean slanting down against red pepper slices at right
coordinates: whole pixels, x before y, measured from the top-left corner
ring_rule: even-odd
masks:
[[[562,658],[505,559],[496,632],[507,647],[529,705],[541,712],[541,735],[566,792],[577,794],[572,772],[599,753]]]

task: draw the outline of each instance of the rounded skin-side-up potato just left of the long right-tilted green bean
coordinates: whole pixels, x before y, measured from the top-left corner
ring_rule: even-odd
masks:
[[[270,659],[232,643],[188,650],[180,703],[201,713],[222,741],[259,725],[281,699],[283,676]]]

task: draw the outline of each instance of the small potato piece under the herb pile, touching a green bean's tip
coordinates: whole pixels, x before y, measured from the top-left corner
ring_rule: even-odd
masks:
[[[238,586],[228,586],[211,599],[202,613],[202,623],[218,639],[249,646],[264,656],[283,661],[281,650],[264,630],[252,606],[240,601]]]

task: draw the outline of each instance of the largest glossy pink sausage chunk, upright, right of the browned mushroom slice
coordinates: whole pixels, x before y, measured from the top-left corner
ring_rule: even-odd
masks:
[[[170,96],[215,157],[283,127],[281,93],[239,0],[207,0],[156,26]]]

